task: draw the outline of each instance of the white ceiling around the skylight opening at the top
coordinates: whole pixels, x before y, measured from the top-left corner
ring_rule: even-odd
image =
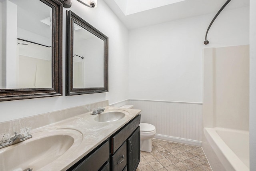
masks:
[[[138,3],[136,1],[142,0],[104,0],[106,4],[112,9],[112,11],[120,18],[124,25],[128,29],[140,28],[144,26],[150,26],[154,24],[160,24],[163,22],[169,22],[173,20],[180,20],[183,18],[189,18],[194,16],[200,16],[205,14],[216,14],[218,10],[223,6],[226,0],[184,0],[181,2],[176,2],[173,4],[164,4],[163,6],[156,5],[156,8],[148,10],[141,10],[141,12],[128,12],[128,8],[132,8],[131,4],[128,2],[134,2],[134,8],[138,9]],[[123,3],[120,3],[123,1]],[[156,2],[166,1],[166,0],[155,0]],[[170,0],[172,1],[172,0]],[[149,2],[149,0],[148,0]],[[224,10],[232,10],[236,8],[242,8],[249,6],[250,0],[231,0]],[[129,4],[129,5],[128,5]],[[157,3],[155,3],[157,4]],[[99,2],[98,2],[99,5]],[[121,10],[122,8],[122,10]],[[146,9],[141,8],[141,9]],[[124,11],[124,12],[123,12]],[[132,10],[130,10],[132,11]],[[140,10],[137,10],[140,11]],[[209,21],[210,23],[210,21]]]

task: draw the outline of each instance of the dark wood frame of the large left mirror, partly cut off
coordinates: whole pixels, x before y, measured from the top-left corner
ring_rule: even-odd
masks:
[[[0,89],[0,101],[62,95],[62,20],[63,4],[58,0],[40,0],[52,8],[52,87]]]

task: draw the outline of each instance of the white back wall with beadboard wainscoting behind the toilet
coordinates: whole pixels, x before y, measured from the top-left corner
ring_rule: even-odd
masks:
[[[142,109],[142,121],[168,140],[202,141],[203,48],[249,44],[246,7],[222,11],[210,28],[210,44],[204,45],[214,15],[130,30],[129,99]]]

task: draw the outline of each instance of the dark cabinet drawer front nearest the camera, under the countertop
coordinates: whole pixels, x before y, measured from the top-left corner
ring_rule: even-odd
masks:
[[[109,157],[109,142],[101,145],[94,153],[82,161],[73,171],[98,171]]]

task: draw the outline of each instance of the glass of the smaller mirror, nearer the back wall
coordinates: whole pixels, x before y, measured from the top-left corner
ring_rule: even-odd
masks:
[[[103,87],[104,41],[74,23],[73,46],[73,87]]]

